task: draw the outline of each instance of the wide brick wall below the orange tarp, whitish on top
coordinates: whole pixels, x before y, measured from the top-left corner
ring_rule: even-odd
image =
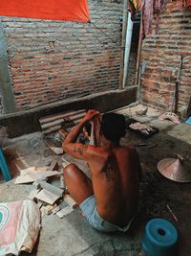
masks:
[[[89,24],[1,18],[18,111],[117,88],[122,1],[89,0],[89,8],[109,37]]]

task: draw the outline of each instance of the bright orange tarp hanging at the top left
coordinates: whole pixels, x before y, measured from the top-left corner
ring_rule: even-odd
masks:
[[[88,22],[86,0],[0,0],[0,15]]]

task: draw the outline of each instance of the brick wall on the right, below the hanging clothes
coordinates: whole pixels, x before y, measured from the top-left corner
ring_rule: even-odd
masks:
[[[180,9],[170,2],[160,14],[159,34],[143,41],[141,60],[146,69],[141,77],[142,101],[167,109],[172,105],[175,81],[180,66],[179,107],[187,106],[191,95],[191,10]]]

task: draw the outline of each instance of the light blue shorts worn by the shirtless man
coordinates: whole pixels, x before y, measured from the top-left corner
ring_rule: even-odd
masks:
[[[79,204],[80,209],[84,212],[86,219],[89,223],[99,231],[103,232],[114,232],[114,231],[122,231],[126,232],[131,222],[134,218],[124,227],[117,226],[116,224],[105,221],[96,211],[96,198],[95,196],[91,196],[90,198],[86,198]]]

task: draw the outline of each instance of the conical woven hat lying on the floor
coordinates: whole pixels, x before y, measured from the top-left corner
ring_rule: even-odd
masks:
[[[177,182],[190,182],[191,173],[186,171],[182,165],[182,159],[165,158],[158,163],[159,173]]]

